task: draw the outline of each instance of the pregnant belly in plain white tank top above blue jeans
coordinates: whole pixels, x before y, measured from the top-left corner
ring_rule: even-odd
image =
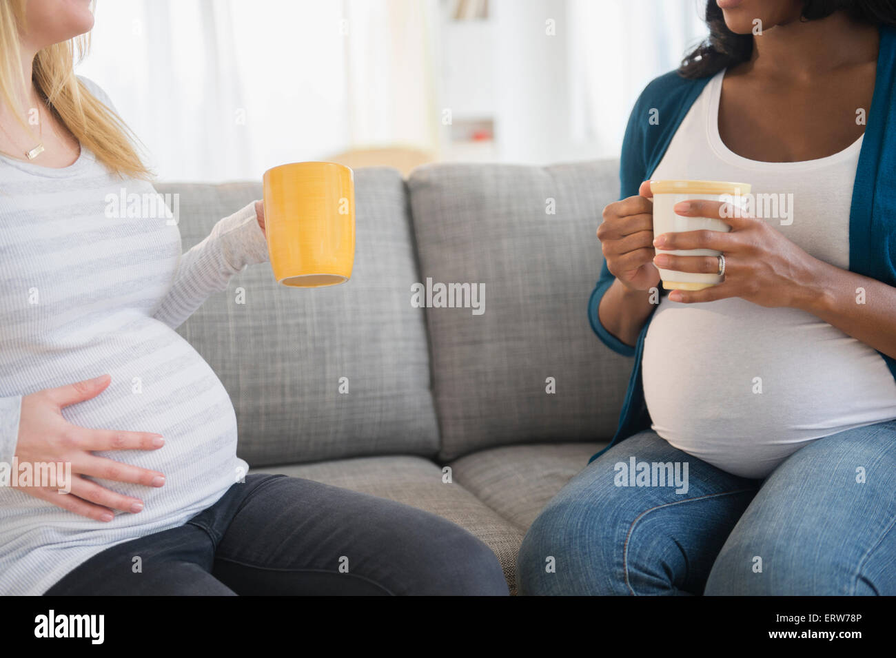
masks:
[[[745,477],[808,441],[896,418],[896,382],[874,349],[809,313],[739,298],[663,298],[642,374],[654,431]]]

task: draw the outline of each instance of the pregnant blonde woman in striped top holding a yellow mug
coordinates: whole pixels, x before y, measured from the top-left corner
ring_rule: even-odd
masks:
[[[227,391],[174,329],[267,259],[263,213],[184,254],[166,218],[106,215],[109,193],[154,191],[73,73],[92,25],[89,0],[0,0],[0,465],[73,472],[70,493],[0,486],[0,594],[507,594],[494,553],[441,517],[241,481]]]

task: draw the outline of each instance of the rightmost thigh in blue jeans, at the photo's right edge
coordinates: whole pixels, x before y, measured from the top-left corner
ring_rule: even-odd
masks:
[[[762,484],[706,594],[896,594],[896,421],[797,450]]]

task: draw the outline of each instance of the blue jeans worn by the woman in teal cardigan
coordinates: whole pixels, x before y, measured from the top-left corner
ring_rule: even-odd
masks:
[[[652,486],[619,486],[631,457],[686,462],[687,491],[662,486],[659,469],[642,480]],[[648,430],[591,462],[542,510],[522,543],[519,592],[893,595],[894,526],[896,421],[815,440],[764,481]]]

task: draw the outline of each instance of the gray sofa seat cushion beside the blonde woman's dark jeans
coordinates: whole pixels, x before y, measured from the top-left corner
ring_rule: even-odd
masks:
[[[442,470],[420,457],[362,457],[319,464],[268,466],[256,472],[282,473],[315,482],[363,491],[425,509],[462,526],[487,543],[501,566],[512,594],[516,588],[516,555],[520,528],[458,483],[442,481]]]

